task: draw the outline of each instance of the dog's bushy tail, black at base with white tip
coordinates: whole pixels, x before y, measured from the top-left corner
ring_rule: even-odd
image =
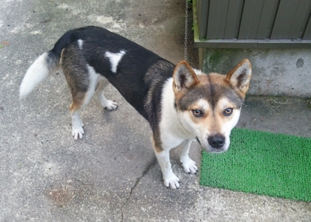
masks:
[[[72,42],[71,34],[71,32],[68,32],[63,35],[52,50],[40,55],[32,63],[23,77],[21,86],[19,86],[19,98],[26,97],[39,83],[61,68],[60,57],[62,50]]]

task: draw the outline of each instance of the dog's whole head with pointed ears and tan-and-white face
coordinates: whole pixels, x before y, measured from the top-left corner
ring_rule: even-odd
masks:
[[[244,59],[227,75],[194,71],[180,62],[173,73],[176,109],[182,126],[209,152],[229,148],[229,135],[238,122],[252,66]]]

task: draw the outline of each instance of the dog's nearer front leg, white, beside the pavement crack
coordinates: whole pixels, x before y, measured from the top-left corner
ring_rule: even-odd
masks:
[[[171,187],[171,189],[179,189],[179,178],[173,173],[173,169],[171,169],[169,149],[162,149],[162,147],[158,145],[159,142],[156,142],[153,136],[151,136],[151,141],[162,170],[164,186]]]

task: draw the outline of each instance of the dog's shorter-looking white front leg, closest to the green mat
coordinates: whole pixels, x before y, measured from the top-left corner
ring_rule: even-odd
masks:
[[[189,149],[191,146],[191,142],[192,140],[185,140],[180,145],[180,147],[182,148],[182,153],[180,154],[180,163],[182,163],[182,167],[184,168],[185,173],[196,174],[196,172],[198,172],[196,162],[189,158]]]

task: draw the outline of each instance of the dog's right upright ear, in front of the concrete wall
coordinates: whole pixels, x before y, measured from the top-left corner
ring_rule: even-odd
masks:
[[[252,65],[248,59],[240,62],[232,71],[229,71],[225,81],[238,89],[245,96],[249,88],[249,80],[252,77]]]

